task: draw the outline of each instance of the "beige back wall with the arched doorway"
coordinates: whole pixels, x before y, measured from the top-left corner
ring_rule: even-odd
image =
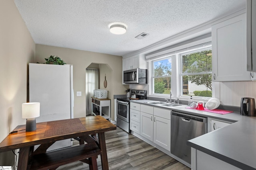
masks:
[[[50,55],[57,55],[67,64],[73,65],[73,88],[74,93],[82,92],[82,96],[74,96],[74,118],[86,116],[86,98],[85,98],[85,74],[86,68],[91,63],[99,64],[100,67],[100,88],[104,89],[103,82],[106,78],[111,99],[111,119],[114,120],[114,95],[126,94],[128,85],[122,85],[122,57],[68,49],[63,47],[54,47],[49,45],[36,44],[36,62],[44,63],[44,58]]]

